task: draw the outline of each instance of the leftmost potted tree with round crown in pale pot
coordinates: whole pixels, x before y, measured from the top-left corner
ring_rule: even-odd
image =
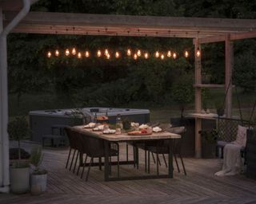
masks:
[[[18,141],[18,161],[10,167],[10,190],[22,194],[30,190],[30,167],[21,160],[21,140],[25,139],[30,129],[25,117],[16,117],[8,124],[10,139]]]

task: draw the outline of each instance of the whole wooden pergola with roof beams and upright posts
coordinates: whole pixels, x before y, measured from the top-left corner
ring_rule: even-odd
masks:
[[[225,42],[225,84],[202,84],[201,57],[194,57],[195,112],[202,109],[202,88],[226,89],[226,116],[232,110],[233,41],[256,37],[256,20],[223,18],[173,18],[107,14],[69,14],[30,12],[38,0],[0,0],[0,191],[9,181],[9,140],[7,53],[8,33],[47,33],[72,35],[108,35],[129,37],[186,37],[194,42],[195,52],[201,44]],[[229,85],[230,84],[230,85]],[[202,119],[195,120],[195,156],[201,156],[198,131]],[[2,190],[3,191],[3,190]]]

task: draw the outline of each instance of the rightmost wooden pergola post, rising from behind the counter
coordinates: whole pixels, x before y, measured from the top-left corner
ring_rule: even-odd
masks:
[[[234,66],[233,41],[230,41],[230,35],[226,35],[225,40],[225,90],[226,90],[226,117],[232,116],[232,70]]]

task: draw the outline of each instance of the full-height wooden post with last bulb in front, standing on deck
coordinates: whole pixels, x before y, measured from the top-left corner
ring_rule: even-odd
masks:
[[[195,84],[202,83],[201,76],[201,55],[199,57],[196,56],[198,49],[201,52],[201,45],[198,43],[198,38],[194,41],[194,82]],[[194,92],[194,108],[196,113],[200,113],[202,109],[202,100],[201,100],[201,88],[195,86]],[[201,135],[199,135],[198,131],[202,129],[202,120],[199,118],[195,118],[195,157],[201,157]]]

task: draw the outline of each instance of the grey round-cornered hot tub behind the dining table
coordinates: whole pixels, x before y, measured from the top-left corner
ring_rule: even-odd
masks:
[[[122,116],[122,119],[129,119],[139,124],[150,122],[150,110],[148,109],[92,107],[31,111],[29,116],[32,140],[41,143],[42,135],[52,134],[53,125],[72,126],[89,123],[95,120],[95,116],[107,115],[109,123],[114,124],[118,114]]]

